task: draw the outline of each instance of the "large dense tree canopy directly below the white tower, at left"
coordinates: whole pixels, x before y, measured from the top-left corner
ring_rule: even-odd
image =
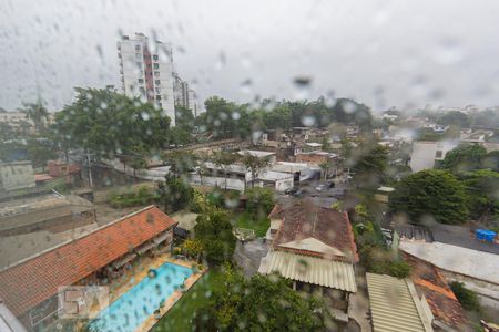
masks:
[[[152,104],[112,89],[75,91],[75,101],[55,117],[54,131],[64,145],[105,156],[134,155],[167,145],[170,118]]]

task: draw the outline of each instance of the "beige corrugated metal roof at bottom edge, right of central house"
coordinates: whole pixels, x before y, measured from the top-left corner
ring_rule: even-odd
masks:
[[[375,332],[432,331],[425,329],[410,291],[410,280],[375,273],[366,273],[366,279]]]

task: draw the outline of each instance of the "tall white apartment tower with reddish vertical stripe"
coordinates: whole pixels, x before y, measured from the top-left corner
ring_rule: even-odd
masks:
[[[161,56],[160,51],[165,53],[165,56]],[[160,106],[174,126],[175,104],[171,45],[160,41],[151,42],[143,33],[135,33],[133,38],[123,35],[122,40],[118,42],[118,56],[120,58],[123,92],[128,96],[140,96]]]

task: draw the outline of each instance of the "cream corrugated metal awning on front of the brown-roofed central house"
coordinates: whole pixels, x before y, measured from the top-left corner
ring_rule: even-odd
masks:
[[[348,262],[272,251],[262,261],[262,273],[279,272],[284,278],[356,292],[354,266]]]

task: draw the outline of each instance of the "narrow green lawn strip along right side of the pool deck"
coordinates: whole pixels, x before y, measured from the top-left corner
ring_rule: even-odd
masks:
[[[208,270],[153,326],[152,331],[191,331],[194,312],[207,303],[213,290],[222,287],[222,282],[220,270]]]

